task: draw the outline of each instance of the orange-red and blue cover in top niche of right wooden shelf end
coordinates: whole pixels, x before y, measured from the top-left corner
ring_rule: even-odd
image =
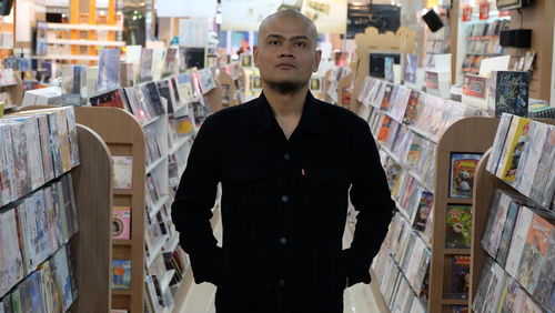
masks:
[[[474,186],[474,171],[482,158],[482,153],[452,153],[450,196],[472,198]]]

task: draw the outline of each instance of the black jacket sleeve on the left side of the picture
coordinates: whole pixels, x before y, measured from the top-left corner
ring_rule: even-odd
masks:
[[[191,148],[171,215],[180,233],[180,244],[191,260],[194,281],[219,284],[222,250],[210,224],[220,181],[218,155],[221,155],[213,117],[204,121]]]

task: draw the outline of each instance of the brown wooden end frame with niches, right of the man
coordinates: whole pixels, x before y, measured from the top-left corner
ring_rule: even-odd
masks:
[[[451,125],[440,139],[436,148],[436,179],[433,210],[432,259],[430,265],[428,312],[450,312],[448,305],[468,305],[468,299],[446,299],[448,276],[446,273],[452,255],[471,255],[471,249],[446,249],[447,204],[473,204],[473,199],[450,198],[452,153],[484,153],[492,147],[498,119],[472,117]],[[472,214],[476,212],[473,208]],[[480,211],[480,210],[478,210]],[[475,233],[472,238],[476,236]],[[480,241],[478,241],[480,242]]]

